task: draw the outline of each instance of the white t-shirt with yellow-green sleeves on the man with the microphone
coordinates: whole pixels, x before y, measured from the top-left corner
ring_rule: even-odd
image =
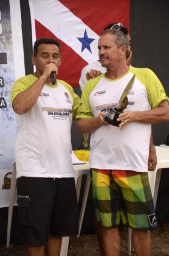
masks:
[[[36,80],[32,74],[16,80],[11,101]],[[19,128],[15,143],[17,178],[74,177],[71,125],[79,101],[71,85],[57,80],[55,87],[44,85],[29,112],[16,114]]]

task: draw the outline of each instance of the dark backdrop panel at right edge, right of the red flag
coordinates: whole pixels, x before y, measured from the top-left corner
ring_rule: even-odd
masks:
[[[152,69],[169,96],[168,12],[168,0],[130,1],[132,65]],[[164,144],[168,133],[169,123],[153,125],[154,144]]]

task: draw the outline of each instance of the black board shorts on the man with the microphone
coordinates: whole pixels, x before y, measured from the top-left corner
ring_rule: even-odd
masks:
[[[19,177],[19,224],[27,246],[42,246],[50,236],[78,234],[74,178]]]

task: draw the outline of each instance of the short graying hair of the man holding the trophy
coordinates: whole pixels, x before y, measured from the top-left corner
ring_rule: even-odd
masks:
[[[105,34],[114,35],[113,40],[114,40],[114,43],[117,44],[117,48],[119,48],[122,45],[125,45],[126,49],[128,49],[128,39],[122,31],[117,29],[107,29],[107,30],[103,30],[101,36]]]

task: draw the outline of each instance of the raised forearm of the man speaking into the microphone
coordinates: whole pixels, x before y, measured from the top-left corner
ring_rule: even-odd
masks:
[[[28,112],[35,105],[41,90],[46,81],[46,77],[41,76],[31,87],[25,91],[21,91],[13,100],[13,109],[19,115]]]

